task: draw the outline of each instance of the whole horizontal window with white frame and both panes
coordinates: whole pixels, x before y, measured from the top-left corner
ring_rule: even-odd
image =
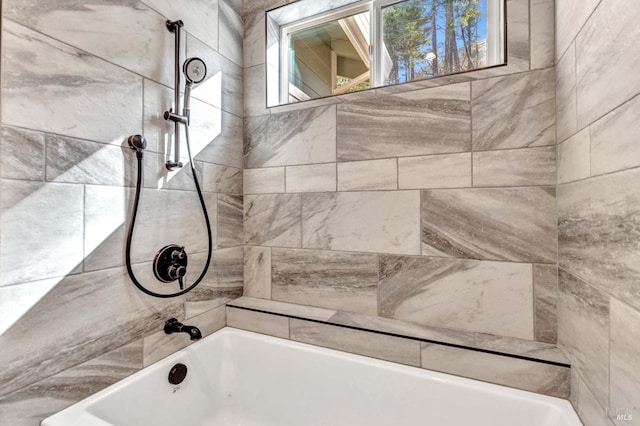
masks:
[[[504,0],[347,2],[267,13],[268,106],[504,63]]]

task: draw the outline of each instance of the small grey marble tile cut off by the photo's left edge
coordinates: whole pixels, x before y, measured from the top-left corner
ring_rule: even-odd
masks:
[[[2,126],[0,178],[44,180],[45,135]]]

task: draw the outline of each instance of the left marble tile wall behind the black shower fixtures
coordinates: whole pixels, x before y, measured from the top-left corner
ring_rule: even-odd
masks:
[[[161,331],[171,316],[205,334],[225,325],[222,306],[243,285],[241,9],[227,0],[2,2],[1,424],[39,424],[188,344]],[[137,172],[124,141],[148,141],[134,271],[155,281],[157,250],[182,243],[192,282],[206,231],[190,169],[164,167],[167,19],[185,23],[182,57],[202,57],[209,71],[193,90],[191,139],[214,254],[196,290],[165,300],[137,290],[124,268]]]

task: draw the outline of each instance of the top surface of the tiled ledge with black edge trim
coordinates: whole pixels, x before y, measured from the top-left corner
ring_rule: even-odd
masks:
[[[247,296],[227,303],[227,307],[570,368],[562,350],[549,343]],[[367,324],[375,324],[375,328]]]

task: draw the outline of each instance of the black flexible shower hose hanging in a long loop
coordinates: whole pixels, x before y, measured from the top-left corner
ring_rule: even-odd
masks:
[[[207,262],[205,263],[204,269],[202,270],[202,273],[200,274],[198,279],[196,279],[195,282],[190,286],[188,286],[187,288],[184,288],[182,277],[180,277],[178,279],[180,283],[180,291],[175,293],[156,293],[154,291],[147,289],[136,278],[135,274],[133,273],[133,268],[131,266],[131,241],[133,240],[133,229],[136,225],[136,217],[138,216],[138,203],[140,202],[142,175],[144,172],[144,167],[142,162],[142,156],[143,156],[142,150],[136,150],[136,158],[138,160],[138,177],[136,179],[136,193],[133,199],[133,214],[131,215],[131,225],[129,226],[129,232],[127,234],[127,248],[126,248],[125,257],[126,257],[126,264],[127,264],[127,272],[129,273],[129,277],[131,277],[131,280],[133,281],[135,286],[138,287],[143,293],[146,293],[149,296],[153,296],[153,297],[170,298],[170,297],[181,296],[185,293],[190,292],[198,284],[200,284],[205,274],[209,270],[209,264],[211,263],[211,253],[212,253],[211,222],[209,221],[209,214],[207,213],[207,206],[205,205],[204,197],[202,196],[202,190],[200,189],[198,176],[196,174],[195,168],[193,167],[193,158],[191,157],[191,146],[189,144],[189,126],[188,125],[185,126],[185,139],[187,142],[187,152],[189,154],[189,166],[191,167],[191,173],[193,174],[193,182],[195,183],[196,191],[198,193],[198,198],[200,199],[200,205],[202,206],[202,213],[204,214],[204,220],[207,224],[207,240],[209,243],[209,246],[208,246],[209,248],[207,250]]]

